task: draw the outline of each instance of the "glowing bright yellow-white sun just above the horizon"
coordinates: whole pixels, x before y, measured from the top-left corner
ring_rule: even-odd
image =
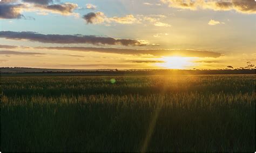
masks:
[[[157,63],[156,65],[163,68],[170,69],[186,69],[194,66],[194,58],[191,57],[163,57],[160,60],[164,62]]]

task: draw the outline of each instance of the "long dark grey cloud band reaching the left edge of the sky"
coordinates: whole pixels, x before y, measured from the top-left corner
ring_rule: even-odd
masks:
[[[147,44],[140,43],[133,39],[114,39],[111,37],[96,37],[84,35],[60,35],[60,34],[40,34],[35,32],[14,32],[0,31],[0,38],[14,40],[38,41],[41,43],[53,44],[103,44],[103,45],[124,45],[124,46],[143,46]]]

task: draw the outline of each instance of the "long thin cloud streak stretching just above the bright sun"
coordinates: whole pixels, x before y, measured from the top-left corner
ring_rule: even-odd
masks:
[[[38,49],[46,50],[67,50],[81,52],[99,52],[99,53],[114,53],[114,54],[129,54],[129,55],[153,55],[161,56],[181,56],[181,57],[213,57],[218,58],[221,53],[199,50],[136,50],[136,49],[121,49],[121,48],[100,48],[100,47],[37,47]]]

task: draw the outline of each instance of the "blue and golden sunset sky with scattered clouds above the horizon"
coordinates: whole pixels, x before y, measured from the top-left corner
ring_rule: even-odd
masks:
[[[0,67],[256,65],[254,0],[2,0]]]

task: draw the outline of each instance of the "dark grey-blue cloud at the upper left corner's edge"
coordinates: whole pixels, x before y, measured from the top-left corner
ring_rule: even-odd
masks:
[[[24,17],[20,9],[23,4],[1,4],[0,3],[0,18],[2,19],[19,19]]]

